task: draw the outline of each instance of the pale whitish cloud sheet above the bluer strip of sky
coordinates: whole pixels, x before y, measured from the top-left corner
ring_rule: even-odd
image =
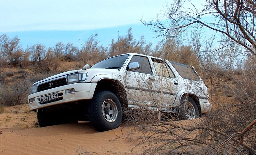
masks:
[[[140,24],[163,10],[165,1],[0,0],[0,31],[91,30]]]

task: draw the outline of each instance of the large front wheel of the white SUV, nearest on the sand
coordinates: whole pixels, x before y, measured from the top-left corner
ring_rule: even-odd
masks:
[[[110,91],[94,94],[88,106],[88,114],[92,125],[98,131],[117,128],[122,121],[122,106],[118,97]]]

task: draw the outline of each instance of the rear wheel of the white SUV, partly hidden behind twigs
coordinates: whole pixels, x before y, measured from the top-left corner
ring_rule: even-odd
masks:
[[[180,106],[179,118],[181,120],[194,119],[199,117],[199,111],[196,106],[196,102],[191,97],[188,97],[187,99],[182,98]]]

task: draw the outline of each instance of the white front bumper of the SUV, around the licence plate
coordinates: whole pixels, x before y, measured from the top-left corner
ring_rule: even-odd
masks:
[[[60,86],[57,88],[48,89],[42,92],[36,92],[33,94],[30,94],[28,96],[28,104],[30,107],[30,110],[35,111],[36,109],[49,107],[53,105],[63,104],[63,103],[70,103],[75,102],[79,100],[89,100],[92,99],[93,93],[95,91],[97,83],[74,83],[69,85]],[[65,93],[65,90],[74,89],[74,92]],[[41,104],[40,103],[40,96],[52,94],[52,93],[58,93],[59,99],[57,101],[53,101],[50,103]],[[32,102],[29,102],[29,100],[34,100]]]

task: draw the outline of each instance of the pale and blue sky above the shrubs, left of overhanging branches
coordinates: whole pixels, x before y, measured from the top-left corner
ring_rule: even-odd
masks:
[[[161,38],[140,19],[156,19],[166,5],[167,0],[0,0],[0,34],[17,35],[23,48],[57,42],[79,47],[95,34],[100,45],[108,46],[132,27],[136,40],[144,35],[155,46]]]

